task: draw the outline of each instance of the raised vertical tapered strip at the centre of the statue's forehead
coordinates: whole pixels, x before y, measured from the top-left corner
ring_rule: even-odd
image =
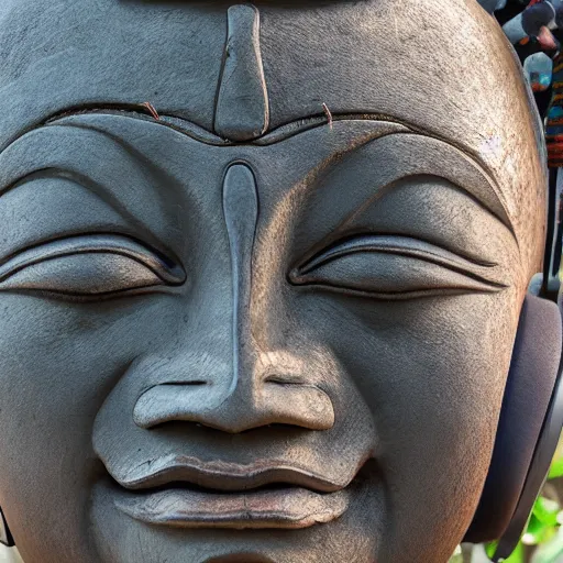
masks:
[[[260,13],[233,5],[216,103],[214,131],[233,142],[252,141],[269,125],[269,102],[260,46]]]

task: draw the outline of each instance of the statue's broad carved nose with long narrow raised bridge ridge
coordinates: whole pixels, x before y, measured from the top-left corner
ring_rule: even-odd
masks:
[[[252,334],[252,255],[258,198],[254,174],[245,164],[234,164],[225,174],[223,213],[232,265],[229,384],[213,374],[198,374],[191,384],[170,378],[169,384],[152,387],[139,398],[134,421],[146,429],[189,421],[231,433],[268,424],[328,430],[334,423],[332,401],[303,374],[302,362],[289,354],[262,351]],[[283,357],[283,365],[276,365],[272,360],[276,357]],[[188,372],[194,368],[186,366]]]

